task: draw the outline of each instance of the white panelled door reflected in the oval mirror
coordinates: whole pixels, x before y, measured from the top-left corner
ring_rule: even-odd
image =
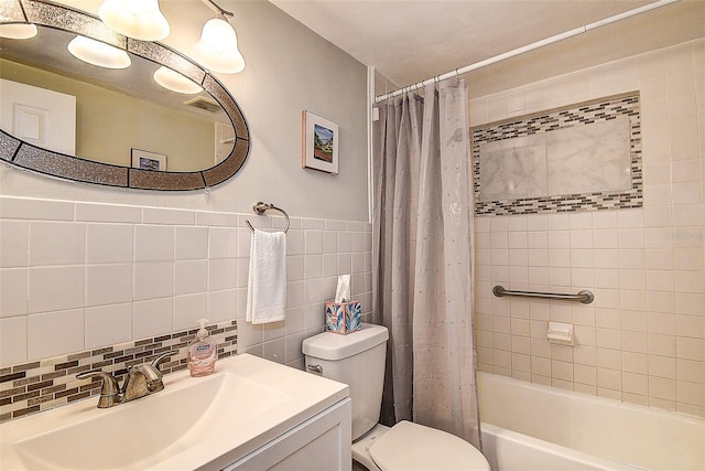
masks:
[[[0,127],[34,146],[75,156],[76,97],[0,78]]]

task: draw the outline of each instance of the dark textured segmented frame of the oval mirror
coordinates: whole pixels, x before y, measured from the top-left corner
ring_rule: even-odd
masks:
[[[13,0],[0,4],[2,23],[34,23],[102,41],[137,56],[172,68],[208,92],[228,115],[235,129],[232,151],[218,164],[193,172],[150,171],[100,163],[46,150],[0,130],[0,160],[33,172],[77,182],[138,190],[185,191],[215,186],[232,176],[250,150],[245,115],[235,98],[195,62],[159,42],[139,41],[108,29],[97,17],[41,0]]]

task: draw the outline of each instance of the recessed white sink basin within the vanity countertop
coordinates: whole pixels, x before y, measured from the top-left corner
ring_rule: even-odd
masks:
[[[285,400],[281,392],[226,373],[112,407],[17,447],[31,468],[143,469],[196,445],[210,424],[251,420]]]

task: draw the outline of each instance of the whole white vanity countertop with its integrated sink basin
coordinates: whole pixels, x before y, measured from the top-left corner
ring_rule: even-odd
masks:
[[[109,409],[93,397],[4,424],[0,469],[220,469],[348,396],[343,384],[251,355],[164,384]]]

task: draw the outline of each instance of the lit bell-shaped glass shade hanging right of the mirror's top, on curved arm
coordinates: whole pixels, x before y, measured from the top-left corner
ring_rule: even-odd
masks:
[[[230,23],[220,18],[208,20],[203,25],[200,41],[194,46],[192,56],[212,72],[237,74],[245,69],[238,36]]]

